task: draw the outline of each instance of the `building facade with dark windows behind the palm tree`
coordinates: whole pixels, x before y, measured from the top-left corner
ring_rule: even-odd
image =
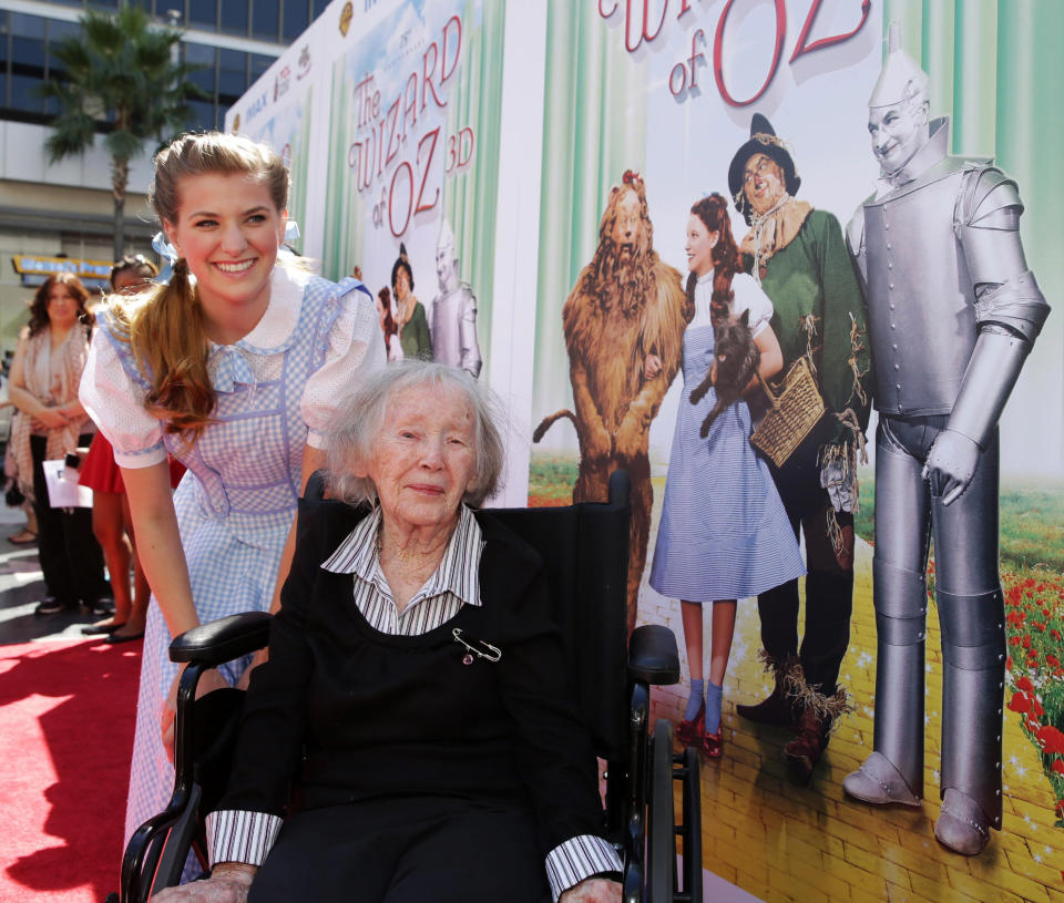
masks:
[[[55,47],[76,35],[86,9],[123,0],[0,0],[0,351],[13,349],[35,285],[55,269],[99,284],[111,263],[110,157],[48,163],[44,142],[55,113],[35,89],[54,78]],[[182,60],[208,99],[193,101],[190,129],[221,127],[228,106],[327,6],[327,0],[136,0],[160,22],[184,31]],[[156,232],[145,191],[154,147],[133,162],[125,202],[126,253],[152,255]]]

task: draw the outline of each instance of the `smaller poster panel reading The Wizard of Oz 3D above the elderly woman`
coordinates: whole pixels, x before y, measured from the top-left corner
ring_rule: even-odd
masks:
[[[474,374],[491,330],[504,16],[392,4],[332,64],[325,275],[358,267],[390,305],[390,357]]]

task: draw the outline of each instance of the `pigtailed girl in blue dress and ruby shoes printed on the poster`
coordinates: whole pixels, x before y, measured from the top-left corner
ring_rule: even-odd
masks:
[[[782,366],[779,342],[769,326],[771,301],[741,271],[727,202],[719,194],[690,208],[686,250],[687,297],[694,318],[684,332],[684,391],[649,582],[662,595],[681,599],[690,696],[676,736],[718,758],[724,748],[720,707],[736,599],[801,576],[805,567],[768,466],[750,447],[746,402],[737,401],[720,412],[705,439],[699,431],[716,403],[716,392],[710,388],[697,404],[690,403],[692,390],[714,363],[715,326],[728,317],[747,312],[764,379]],[[713,605],[708,684],[703,678],[704,604]]]

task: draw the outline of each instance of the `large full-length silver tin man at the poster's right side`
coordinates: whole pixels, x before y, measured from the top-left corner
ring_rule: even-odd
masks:
[[[890,27],[868,102],[877,193],[848,228],[866,281],[876,373],[878,660],[874,752],[845,781],[874,804],[921,804],[929,536],[942,634],[942,808],[965,855],[1001,829],[1004,603],[998,419],[1048,315],[1020,240],[1016,184],[947,154],[928,76]]]

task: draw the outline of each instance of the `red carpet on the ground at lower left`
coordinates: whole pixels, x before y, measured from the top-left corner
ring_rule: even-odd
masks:
[[[119,889],[141,645],[0,646],[0,903]]]

